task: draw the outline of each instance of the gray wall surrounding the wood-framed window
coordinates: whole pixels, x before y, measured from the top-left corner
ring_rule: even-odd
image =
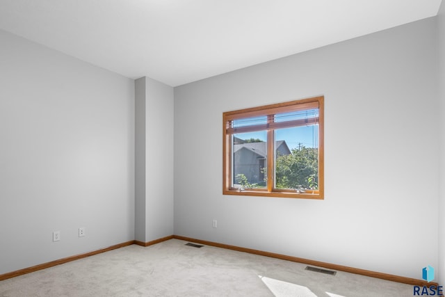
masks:
[[[410,278],[437,266],[435,21],[175,88],[175,234]],[[222,195],[223,112],[317,95],[325,200]]]

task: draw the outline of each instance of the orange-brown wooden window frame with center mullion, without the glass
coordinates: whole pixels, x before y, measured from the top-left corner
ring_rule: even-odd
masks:
[[[313,109],[314,106],[318,108],[318,190],[307,190],[305,193],[296,193],[296,191],[283,190],[273,188],[273,181],[275,175],[275,129],[284,127],[297,127],[298,122],[287,122],[280,124],[273,122],[273,117],[276,113],[289,113],[291,111]],[[252,118],[257,116],[268,116],[268,123],[256,125],[253,128],[231,127],[232,120],[242,118]],[[314,123],[309,119],[307,123]],[[232,187],[232,134],[243,133],[243,131],[267,131],[267,182],[266,188],[246,188],[241,191],[241,188]],[[306,198],[306,199],[324,199],[324,96],[311,97],[307,99],[300,99],[291,102],[284,102],[278,104],[270,104],[266,106],[257,106],[250,109],[241,109],[238,111],[228,111],[223,113],[223,195],[250,195],[250,196],[265,196],[277,198]]]

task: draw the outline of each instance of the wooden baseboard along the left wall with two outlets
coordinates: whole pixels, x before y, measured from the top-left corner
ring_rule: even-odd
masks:
[[[72,262],[72,261],[75,261],[75,260],[78,260],[78,259],[82,259],[82,258],[90,257],[90,256],[93,256],[93,255],[97,255],[97,254],[100,254],[102,252],[108,252],[110,250],[115,250],[116,248],[123,248],[124,246],[131,246],[134,243],[135,242],[133,240],[132,241],[127,241],[127,242],[124,242],[124,243],[115,244],[114,246],[109,246],[108,248],[102,248],[100,250],[94,250],[92,252],[86,252],[85,254],[75,255],[75,256],[71,256],[71,257],[66,257],[66,258],[63,258],[63,259],[58,259],[58,260],[47,262],[47,263],[44,263],[44,264],[38,264],[38,265],[35,265],[35,266],[32,266],[32,267],[23,268],[23,269],[20,269],[20,270],[17,270],[17,271],[1,274],[0,275],[0,280],[7,280],[8,278],[15,278],[16,276],[19,276],[19,275],[24,275],[26,273],[39,271],[39,270],[42,270],[44,268],[49,268],[49,267],[56,266],[56,265],[59,265],[59,264],[64,264],[64,263],[67,263],[67,262]]]

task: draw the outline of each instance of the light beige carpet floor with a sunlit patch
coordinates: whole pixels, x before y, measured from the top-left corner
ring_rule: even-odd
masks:
[[[0,296],[413,296],[409,284],[185,243],[127,246],[3,280]]]

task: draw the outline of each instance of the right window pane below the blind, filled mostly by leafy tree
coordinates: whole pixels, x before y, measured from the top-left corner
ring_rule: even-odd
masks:
[[[318,125],[275,130],[277,189],[318,189]]]

